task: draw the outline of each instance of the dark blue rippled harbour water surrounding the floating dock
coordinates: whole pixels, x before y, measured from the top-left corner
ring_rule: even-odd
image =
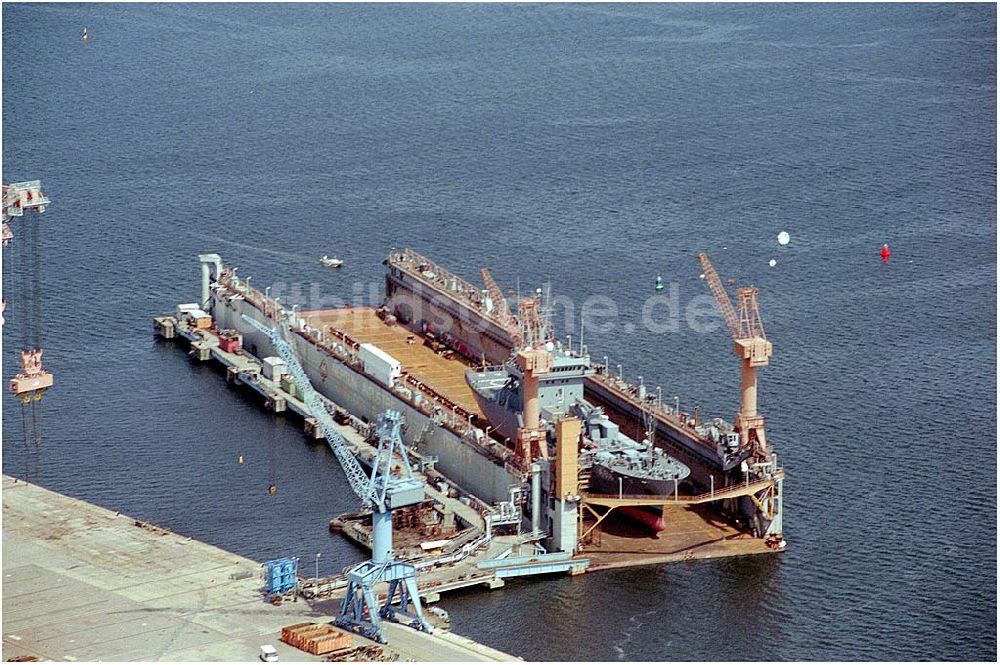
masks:
[[[993,660],[996,71],[983,4],[5,4],[3,178],[53,201],[39,481],[334,572],[361,553],[327,534],[356,505],[333,456],[153,340],[196,254],[312,304],[378,292],[403,245],[605,296],[596,357],[731,417],[723,330],[640,325],[660,271],[712,311],[704,250],[761,289],[788,551],[446,597],[456,631],[531,659]]]

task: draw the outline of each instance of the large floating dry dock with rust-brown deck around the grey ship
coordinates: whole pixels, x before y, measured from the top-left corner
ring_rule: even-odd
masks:
[[[588,470],[578,466],[571,427],[566,428],[567,441],[555,444],[559,454],[525,464],[515,442],[490,427],[465,380],[470,368],[509,351],[511,340],[504,337],[511,333],[504,318],[509,313],[500,315],[494,308],[484,314],[481,290],[419,255],[403,252],[387,260],[387,298],[393,300],[383,308],[303,312],[283,309],[237,278],[235,269],[225,267],[217,255],[200,258],[200,303],[156,317],[160,337],[185,342],[197,360],[219,363],[227,379],[261,395],[268,409],[301,416],[306,434],[319,437],[294,385],[274,374],[270,341],[243,318],[267,327],[277,319],[289,321],[289,342],[326,407],[342,423],[354,453],[362,461],[371,456],[367,423],[377,413],[401,412],[407,424],[404,441],[427,480],[435,509],[458,514],[464,504],[464,511],[475,515],[464,518],[469,528],[463,535],[423,556],[420,589],[425,597],[463,586],[493,588],[515,575],[578,574],[784,548],[784,472],[775,456],[749,466],[727,466],[696,429],[697,419],[659,404],[651,408],[641,387],[600,371],[588,376],[588,398],[607,409],[623,431],[634,429],[643,412],[648,413],[655,423],[655,445],[690,467],[688,484],[678,491],[675,483],[670,495],[595,492],[588,487]],[[421,324],[414,314],[421,303],[424,317],[452,317],[454,334],[435,334]],[[482,321],[470,323],[475,317],[463,314],[462,307],[479,308]],[[472,325],[483,321],[489,325]],[[372,347],[396,363],[389,373],[366,363],[366,349]],[[662,511],[666,530],[652,535],[618,519],[635,507]],[[364,543],[363,520],[347,520],[342,526]],[[420,564],[417,560],[418,568]],[[339,581],[304,586],[323,595],[337,589]]]

